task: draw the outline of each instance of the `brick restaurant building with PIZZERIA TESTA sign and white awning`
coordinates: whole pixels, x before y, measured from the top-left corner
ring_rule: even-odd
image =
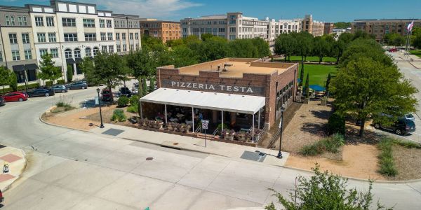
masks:
[[[295,97],[297,74],[298,64],[255,58],[162,66],[156,69],[158,89],[140,99],[141,118],[161,116],[163,123],[192,125],[192,132],[209,120],[210,132],[229,128],[254,134],[277,126],[281,106]]]

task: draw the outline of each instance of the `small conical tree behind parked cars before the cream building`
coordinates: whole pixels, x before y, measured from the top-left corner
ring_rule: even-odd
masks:
[[[62,72],[58,66],[54,66],[55,62],[52,59],[53,57],[50,54],[45,54],[41,56],[41,61],[39,62],[39,73],[38,77],[42,80],[50,80],[51,84],[54,83],[54,80],[62,76]]]

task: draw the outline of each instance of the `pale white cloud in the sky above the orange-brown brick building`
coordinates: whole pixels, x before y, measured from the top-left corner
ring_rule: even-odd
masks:
[[[189,0],[93,0],[101,8],[113,13],[139,15],[140,18],[166,18],[178,15],[178,11],[202,6]]]

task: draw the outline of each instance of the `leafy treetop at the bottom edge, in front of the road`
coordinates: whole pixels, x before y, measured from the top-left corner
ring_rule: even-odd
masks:
[[[298,209],[349,209],[368,210],[373,202],[373,181],[368,185],[368,192],[358,192],[356,188],[348,188],[348,179],[339,175],[320,172],[319,165],[312,169],[315,173],[309,179],[298,176],[295,189],[289,193],[290,200],[274,189],[274,196],[278,202],[287,210]],[[276,210],[272,202],[267,210]],[[377,202],[377,209],[385,209]]]

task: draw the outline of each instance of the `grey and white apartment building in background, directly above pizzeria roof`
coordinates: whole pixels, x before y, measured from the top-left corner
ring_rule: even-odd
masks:
[[[243,16],[243,13],[209,15],[181,20],[182,37],[213,34],[228,40],[260,37],[269,41],[269,21]]]

